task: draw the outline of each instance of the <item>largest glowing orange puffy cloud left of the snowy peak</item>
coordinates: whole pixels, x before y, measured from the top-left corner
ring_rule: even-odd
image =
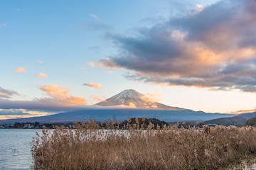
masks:
[[[65,86],[58,85],[45,85],[40,86],[42,91],[45,91],[46,94],[52,97],[55,101],[65,103],[68,105],[82,105],[85,103],[85,98],[76,97],[69,93]]]

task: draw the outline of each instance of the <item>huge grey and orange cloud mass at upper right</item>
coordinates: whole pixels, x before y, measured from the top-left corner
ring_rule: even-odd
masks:
[[[90,65],[127,69],[135,81],[256,92],[256,1],[196,7],[135,35],[106,34],[119,54]]]

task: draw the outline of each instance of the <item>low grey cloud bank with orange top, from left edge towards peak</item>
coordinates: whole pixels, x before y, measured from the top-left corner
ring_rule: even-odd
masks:
[[[45,98],[33,98],[28,101],[9,100],[11,96],[19,95],[16,91],[0,87],[0,109],[28,109],[43,111],[67,111],[85,108],[85,98],[73,96],[64,86],[44,85],[39,89],[46,93]],[[26,111],[26,113],[30,113]]]

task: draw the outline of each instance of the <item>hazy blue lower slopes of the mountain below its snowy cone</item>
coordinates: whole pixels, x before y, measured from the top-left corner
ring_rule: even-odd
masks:
[[[215,118],[226,118],[232,117],[234,115],[230,114],[220,114],[220,113],[205,113],[203,111],[191,111],[191,110],[156,110],[156,109],[138,109],[138,108],[105,108],[105,109],[87,109],[83,111],[73,111],[66,113],[58,113],[55,115],[46,115],[41,117],[33,118],[20,118],[20,119],[8,119],[0,120],[1,124],[12,124],[15,122],[39,122],[39,123],[69,123],[74,120],[82,121],[82,118],[93,119],[96,118],[97,121],[112,119],[113,116],[119,120],[127,120],[129,118],[156,118],[166,122],[177,122],[186,120],[189,121],[205,121]]]

